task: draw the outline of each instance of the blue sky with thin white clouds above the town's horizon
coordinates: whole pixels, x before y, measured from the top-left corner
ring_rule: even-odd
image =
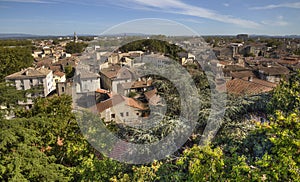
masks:
[[[299,35],[299,17],[295,0],[0,0],[0,33],[99,35],[126,21],[162,18],[200,35]],[[149,27],[143,26],[145,31]]]

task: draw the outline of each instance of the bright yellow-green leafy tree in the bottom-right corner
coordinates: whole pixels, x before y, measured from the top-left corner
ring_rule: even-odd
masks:
[[[287,117],[277,112],[271,124],[260,125],[273,147],[255,162],[255,177],[267,181],[298,181],[300,179],[300,115]]]

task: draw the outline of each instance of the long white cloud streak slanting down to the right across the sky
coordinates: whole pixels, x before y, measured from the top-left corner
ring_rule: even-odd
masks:
[[[205,9],[202,7],[192,6],[181,2],[180,0],[127,0],[123,1],[126,3],[127,7],[131,7],[130,3],[135,3],[139,5],[138,8],[144,9],[151,9],[154,11],[163,11],[166,13],[174,13],[174,14],[182,14],[182,15],[189,15],[199,18],[206,18],[210,20],[215,20],[223,23],[230,23],[239,25],[242,27],[248,28],[257,28],[260,26],[259,23],[250,20],[244,20],[236,17],[232,17],[229,15],[222,15],[218,12],[215,12],[210,9]],[[130,4],[130,5],[129,5]],[[137,6],[132,6],[137,8]]]

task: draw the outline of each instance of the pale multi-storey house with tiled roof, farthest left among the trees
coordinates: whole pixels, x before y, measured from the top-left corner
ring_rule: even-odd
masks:
[[[13,73],[5,77],[8,82],[13,82],[17,90],[29,90],[35,87],[41,86],[41,92],[28,95],[28,97],[46,97],[53,90],[53,73],[52,70],[47,68],[26,68],[17,73]],[[26,103],[19,103],[20,105],[32,105],[31,99],[28,99]]]

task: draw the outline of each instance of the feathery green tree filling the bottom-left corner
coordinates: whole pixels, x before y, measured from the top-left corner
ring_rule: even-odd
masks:
[[[27,128],[33,119],[0,122],[0,179],[3,181],[67,181],[65,167],[39,148],[40,136]]]

